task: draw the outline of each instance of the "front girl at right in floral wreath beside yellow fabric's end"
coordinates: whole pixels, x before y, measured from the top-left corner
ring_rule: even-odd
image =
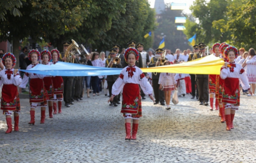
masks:
[[[225,62],[225,66],[220,72],[220,77],[224,80],[222,103],[225,105],[226,130],[229,131],[234,129],[233,120],[235,112],[240,105],[239,79],[241,79],[243,89],[248,89],[250,94],[252,94],[252,91],[250,91],[250,85],[244,69],[235,62],[238,56],[236,47],[229,46],[224,54],[229,62]]]

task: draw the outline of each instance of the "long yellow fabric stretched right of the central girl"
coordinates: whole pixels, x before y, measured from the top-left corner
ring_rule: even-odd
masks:
[[[142,72],[165,72],[178,74],[220,74],[220,68],[224,60],[213,54],[190,62],[158,66],[152,68],[141,68]]]

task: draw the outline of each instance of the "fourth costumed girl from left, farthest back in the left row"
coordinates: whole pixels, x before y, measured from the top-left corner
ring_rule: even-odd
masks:
[[[52,64],[56,64],[60,58],[60,52],[57,49],[51,51]],[[53,83],[53,114],[57,114],[57,102],[58,101],[58,113],[62,113],[61,105],[63,100],[63,79],[61,76],[52,76]]]

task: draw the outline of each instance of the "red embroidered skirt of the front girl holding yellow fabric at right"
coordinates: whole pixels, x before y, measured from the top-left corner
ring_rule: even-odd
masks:
[[[222,103],[230,103],[236,106],[240,105],[240,88],[238,78],[226,78],[224,80]]]

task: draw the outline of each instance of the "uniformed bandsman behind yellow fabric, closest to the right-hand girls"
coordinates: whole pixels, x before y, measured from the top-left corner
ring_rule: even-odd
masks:
[[[205,48],[206,45],[202,42],[198,44],[198,48],[200,49],[200,58],[205,57]],[[209,86],[208,86],[208,78],[209,75],[207,74],[196,74],[196,78],[198,81],[198,90],[199,90],[199,101],[200,105],[208,106],[209,101]]]

